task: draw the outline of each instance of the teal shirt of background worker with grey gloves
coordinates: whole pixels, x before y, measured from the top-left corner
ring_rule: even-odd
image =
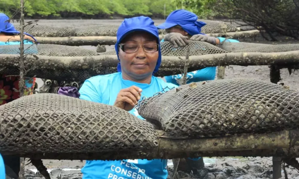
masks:
[[[225,40],[225,38],[223,37],[218,37],[218,39],[220,40],[220,43]],[[234,39],[227,39],[226,41],[239,42]],[[162,39],[160,42],[164,42],[164,39]],[[216,76],[216,67],[206,67],[193,72],[188,72],[187,83],[214,80],[215,76]],[[181,85],[183,78],[182,78],[182,74],[178,74],[178,75],[165,76],[165,80],[168,83]]]

